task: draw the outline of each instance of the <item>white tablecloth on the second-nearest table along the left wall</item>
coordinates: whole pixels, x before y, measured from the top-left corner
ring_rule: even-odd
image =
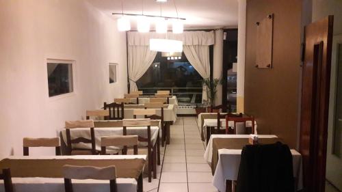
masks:
[[[157,137],[159,134],[159,127],[158,126],[151,126],[151,139],[152,143],[155,144],[157,141]],[[95,144],[96,144],[96,150],[101,150],[101,137],[109,137],[109,136],[116,136],[116,135],[122,135],[123,128],[122,127],[96,127],[94,128],[95,132]],[[127,127],[127,135],[138,135],[140,137],[147,138],[147,128],[146,127]],[[66,130],[62,129],[62,137],[64,140],[64,143],[66,143]],[[84,137],[84,138],[90,138],[90,128],[72,128],[70,129],[70,137],[71,139],[75,139],[77,137]],[[139,142],[139,146],[147,146],[146,142]],[[73,148],[79,148],[79,149],[91,149],[92,146],[90,143],[76,143],[73,144]],[[119,150],[121,150],[122,147],[108,147],[107,150],[109,150],[111,153],[116,153]]]

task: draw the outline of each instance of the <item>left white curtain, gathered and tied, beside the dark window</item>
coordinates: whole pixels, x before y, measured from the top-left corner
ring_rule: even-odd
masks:
[[[137,91],[137,80],[144,75],[152,64],[157,51],[150,51],[148,45],[128,45],[129,90]]]

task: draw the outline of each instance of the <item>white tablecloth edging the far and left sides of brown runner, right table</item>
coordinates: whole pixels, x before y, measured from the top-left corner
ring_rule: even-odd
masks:
[[[213,134],[210,136],[207,148],[205,149],[205,161],[211,165],[211,158],[213,156],[213,139],[214,138],[246,138],[248,139],[250,135],[217,135]],[[276,135],[258,135],[259,138],[277,138]]]

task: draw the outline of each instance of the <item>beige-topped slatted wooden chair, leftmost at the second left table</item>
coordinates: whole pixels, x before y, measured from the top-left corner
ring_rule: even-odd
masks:
[[[68,155],[75,154],[97,154],[96,146],[95,146],[95,132],[94,132],[94,121],[93,120],[79,120],[79,121],[66,121],[66,153]],[[70,129],[75,128],[89,128],[90,130],[90,139],[86,139],[84,137],[77,137],[75,139],[71,139]],[[73,149],[73,144],[75,143],[90,143],[92,145],[91,150],[84,149]]]

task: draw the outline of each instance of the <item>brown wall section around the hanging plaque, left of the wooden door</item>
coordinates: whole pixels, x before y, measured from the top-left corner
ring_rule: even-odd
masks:
[[[248,0],[246,18],[245,113],[254,115],[259,134],[276,134],[295,148],[300,85],[302,1]],[[272,70],[255,68],[255,23],[274,13]]]

